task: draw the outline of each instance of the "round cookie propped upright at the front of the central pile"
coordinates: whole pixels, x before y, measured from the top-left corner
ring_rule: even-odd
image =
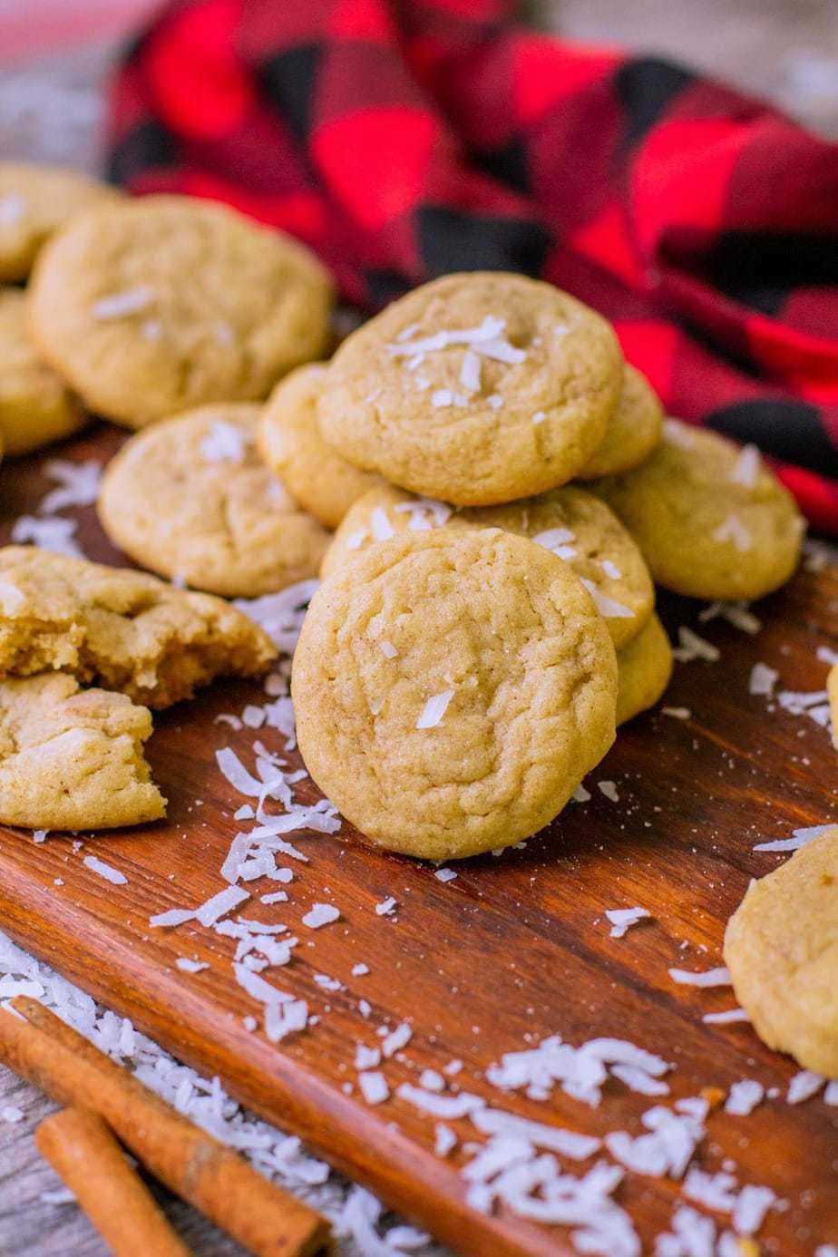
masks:
[[[303,759],[372,842],[505,847],[614,738],[617,665],[565,563],[500,529],[406,533],[315,593],[291,674]]]

